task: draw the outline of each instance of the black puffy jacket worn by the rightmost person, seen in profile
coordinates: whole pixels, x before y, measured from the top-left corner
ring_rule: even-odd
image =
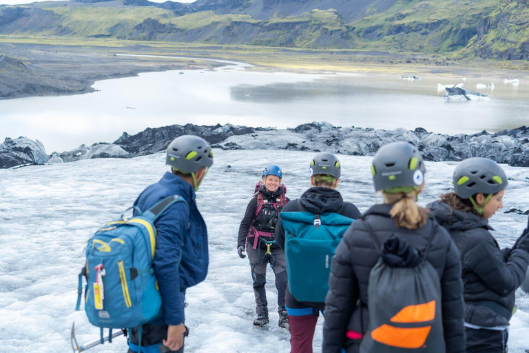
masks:
[[[450,232],[461,254],[465,321],[484,327],[508,325],[508,318],[499,312],[501,307],[512,312],[515,291],[526,275],[529,253],[521,249],[500,250],[487,219],[454,210],[441,201],[428,207]],[[500,310],[491,307],[490,302],[501,305]]]

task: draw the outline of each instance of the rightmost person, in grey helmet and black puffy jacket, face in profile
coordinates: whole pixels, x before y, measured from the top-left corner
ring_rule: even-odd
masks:
[[[500,250],[490,233],[488,219],[504,207],[508,185],[497,163],[466,159],[455,168],[453,183],[454,192],[430,208],[461,254],[466,352],[504,353],[515,290],[529,263],[529,236],[524,232],[514,247]]]

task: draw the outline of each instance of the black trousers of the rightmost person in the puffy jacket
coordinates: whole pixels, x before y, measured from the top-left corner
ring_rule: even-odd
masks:
[[[507,331],[466,327],[466,353],[507,353]]]

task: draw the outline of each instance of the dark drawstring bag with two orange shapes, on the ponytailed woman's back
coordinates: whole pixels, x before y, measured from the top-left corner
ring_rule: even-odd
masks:
[[[369,223],[364,220],[363,225],[377,249],[382,249]],[[381,254],[371,269],[369,327],[360,343],[361,353],[445,352],[441,281],[426,261],[434,236],[435,225],[424,252],[415,250],[418,265],[392,267]]]

